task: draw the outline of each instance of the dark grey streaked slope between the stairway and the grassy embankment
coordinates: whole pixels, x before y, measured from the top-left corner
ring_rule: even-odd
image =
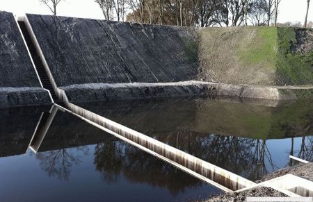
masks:
[[[29,15],[58,86],[195,78],[193,28]]]

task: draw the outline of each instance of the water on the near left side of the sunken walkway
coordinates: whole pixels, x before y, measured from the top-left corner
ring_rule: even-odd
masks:
[[[61,110],[33,153],[27,146],[42,111],[49,108],[0,109],[0,201],[193,201],[220,193]]]

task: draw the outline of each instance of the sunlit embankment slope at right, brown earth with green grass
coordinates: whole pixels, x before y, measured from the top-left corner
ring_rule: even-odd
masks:
[[[301,51],[303,44],[312,42],[312,33],[265,26],[204,28],[200,78],[233,84],[312,85],[313,49],[306,46]]]

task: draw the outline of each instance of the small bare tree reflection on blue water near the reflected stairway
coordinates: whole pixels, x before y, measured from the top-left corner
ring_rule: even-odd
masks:
[[[36,153],[36,159],[40,162],[40,167],[45,170],[48,176],[56,176],[59,180],[68,180],[70,169],[73,165],[81,162],[81,155],[88,155],[87,146],[79,146],[75,149],[58,149]]]

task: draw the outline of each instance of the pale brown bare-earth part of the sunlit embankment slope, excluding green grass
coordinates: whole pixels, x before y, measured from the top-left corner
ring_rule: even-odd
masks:
[[[199,79],[216,83],[273,85],[274,64],[262,61],[247,65],[238,56],[242,50],[259,47],[262,43],[256,28],[204,28],[198,55]]]

